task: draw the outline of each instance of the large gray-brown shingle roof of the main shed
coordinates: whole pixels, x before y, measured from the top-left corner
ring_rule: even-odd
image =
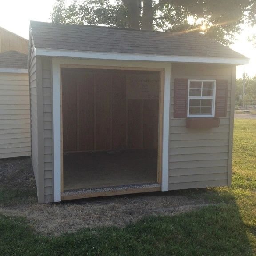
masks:
[[[36,48],[245,58],[200,33],[168,33],[36,21],[30,24]]]

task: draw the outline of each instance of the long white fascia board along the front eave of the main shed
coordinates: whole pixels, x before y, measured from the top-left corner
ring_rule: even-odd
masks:
[[[35,48],[36,56],[84,58],[96,60],[136,60],[136,61],[161,61],[161,62],[187,62],[187,63],[215,63],[215,64],[237,64],[249,63],[247,58],[216,58],[200,56],[175,56],[137,53],[116,52],[87,52],[76,50]]]

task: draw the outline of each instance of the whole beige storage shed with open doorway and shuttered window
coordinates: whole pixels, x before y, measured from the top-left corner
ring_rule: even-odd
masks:
[[[231,184],[236,65],[196,33],[31,22],[40,203]]]

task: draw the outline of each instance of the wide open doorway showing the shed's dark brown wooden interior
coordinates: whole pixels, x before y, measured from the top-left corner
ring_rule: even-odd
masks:
[[[63,192],[160,190],[161,72],[61,70]]]

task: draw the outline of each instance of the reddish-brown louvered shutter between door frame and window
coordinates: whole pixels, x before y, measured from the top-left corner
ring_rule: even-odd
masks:
[[[174,117],[187,117],[188,79],[174,80]]]

